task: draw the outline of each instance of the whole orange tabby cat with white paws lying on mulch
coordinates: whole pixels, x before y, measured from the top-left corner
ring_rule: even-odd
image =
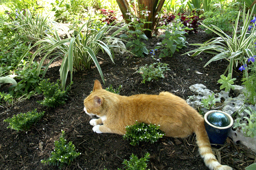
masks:
[[[160,125],[166,136],[183,138],[194,132],[206,166],[212,170],[232,170],[221,165],[213,155],[204,118],[185,100],[169,92],[126,97],[102,89],[100,82],[95,80],[92,93],[84,99],[84,111],[99,117],[90,121],[96,133],[124,135],[125,127],[133,125],[136,120]]]

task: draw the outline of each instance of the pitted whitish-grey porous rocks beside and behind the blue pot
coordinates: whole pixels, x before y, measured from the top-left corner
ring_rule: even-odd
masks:
[[[204,113],[208,112],[209,110],[203,108],[201,106],[201,100],[203,98],[208,98],[209,95],[212,95],[212,91],[207,89],[203,84],[195,84],[189,87],[189,89],[194,92],[195,95],[190,96],[187,99],[187,103],[195,108],[196,110],[198,107],[200,107],[200,110],[202,110]],[[222,102],[224,107],[221,109],[223,112],[228,113],[229,115],[232,115],[233,113],[238,113],[235,115],[235,120],[236,122],[237,119],[241,118],[240,123],[248,123],[246,119],[244,119],[244,116],[249,117],[248,113],[246,112],[241,112],[243,109],[243,105],[245,107],[251,107],[252,110],[256,111],[256,104],[254,105],[249,105],[248,103],[244,103],[245,96],[244,96],[244,91],[245,88],[243,86],[237,86],[235,85],[235,89],[233,89],[234,93],[238,95],[237,97],[229,97],[229,92],[221,91],[220,93],[217,93],[216,95],[218,96]],[[233,125],[234,127],[234,125]],[[256,136],[254,138],[251,137],[245,137],[243,134],[243,131],[238,128],[236,130],[230,130],[228,133],[228,136],[232,138],[234,143],[241,143],[245,145],[247,148],[251,149],[253,152],[256,153]]]

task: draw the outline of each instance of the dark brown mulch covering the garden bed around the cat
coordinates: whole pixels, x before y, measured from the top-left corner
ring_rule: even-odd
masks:
[[[203,31],[186,35],[186,37],[188,43],[203,43],[210,39]],[[153,37],[145,43],[148,49],[154,49],[157,42],[160,42],[159,38]],[[155,62],[150,55],[145,58],[133,58],[129,54],[116,55],[114,64],[105,54],[99,54],[97,57],[99,57],[106,82],[103,88],[110,84],[114,88],[122,85],[120,95],[126,96],[169,91],[187,99],[192,95],[189,86],[201,83],[217,92],[220,89],[217,81],[226,70],[228,63],[226,61],[212,62],[204,68],[203,66],[212,56],[205,53],[196,57],[181,56],[192,49],[195,47],[188,45],[188,48],[176,52],[172,58],[161,59],[161,62],[169,64],[171,70],[165,73],[165,79],[146,84],[140,83],[142,78],[139,73],[135,72],[138,67]],[[155,58],[158,58],[158,55],[156,53]],[[50,78],[51,81],[59,79],[60,63],[60,60],[55,61],[45,78]],[[237,85],[241,84],[241,76],[237,72],[234,73]],[[150,153],[149,169],[208,169],[199,156],[194,135],[185,139],[164,137],[153,144],[140,143],[139,146],[132,146],[129,141],[124,141],[121,135],[94,133],[89,124],[91,118],[83,111],[83,99],[90,94],[95,79],[101,80],[95,67],[75,73],[69,100],[66,104],[56,108],[48,109],[36,103],[43,99],[42,95],[0,107],[0,169],[58,169],[55,166],[45,166],[40,160],[49,158],[50,152],[54,150],[54,141],[59,139],[61,130],[65,130],[67,141],[72,141],[76,149],[81,152],[81,155],[70,166],[65,166],[63,169],[100,170],[107,168],[114,170],[118,167],[123,168],[122,162],[124,159],[129,160],[132,153],[140,158],[147,152]],[[34,108],[38,111],[45,111],[45,115],[28,131],[17,133],[7,128],[8,124],[3,122],[12,115],[32,111]],[[225,145],[215,147],[213,151],[223,165],[229,165],[234,169],[242,170],[255,162],[255,153],[248,151],[241,144],[233,143],[229,138]]]

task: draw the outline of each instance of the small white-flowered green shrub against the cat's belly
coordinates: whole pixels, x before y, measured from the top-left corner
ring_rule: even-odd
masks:
[[[139,142],[154,143],[165,134],[160,129],[160,125],[139,123],[136,121],[134,125],[126,126],[126,134],[123,136],[125,139],[131,140],[131,145],[135,146]]]

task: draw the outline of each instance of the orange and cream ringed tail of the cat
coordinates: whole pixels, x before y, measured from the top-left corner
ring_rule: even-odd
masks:
[[[232,170],[230,166],[221,165],[212,153],[211,144],[204,127],[204,120],[195,128],[196,143],[199,147],[199,153],[204,158],[204,163],[211,170]]]

